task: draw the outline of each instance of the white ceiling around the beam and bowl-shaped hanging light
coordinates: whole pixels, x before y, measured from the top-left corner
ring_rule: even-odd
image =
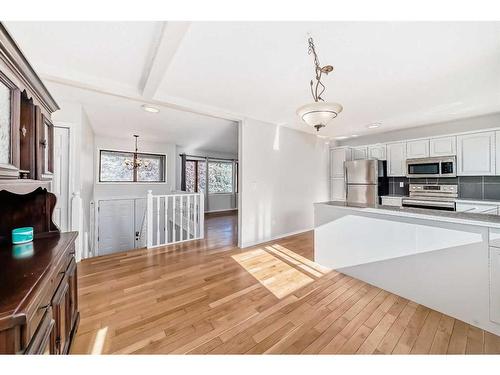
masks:
[[[311,129],[295,110],[311,101],[310,33],[320,62],[335,68],[323,96],[344,106],[321,131],[332,137],[500,111],[499,22],[193,22],[187,31],[165,31],[161,22],[7,27],[35,69],[51,79],[305,131]],[[148,77],[155,90],[147,98]],[[116,107],[128,113],[133,106]],[[96,128],[112,128],[110,120],[121,116],[107,118],[97,99],[94,107],[88,112]],[[374,122],[382,126],[367,129]],[[155,131],[157,125],[147,119],[140,126]]]

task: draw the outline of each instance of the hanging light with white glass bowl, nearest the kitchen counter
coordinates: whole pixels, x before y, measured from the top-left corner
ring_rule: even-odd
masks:
[[[309,55],[312,54],[314,56],[316,82],[314,82],[314,80],[311,80],[310,82],[311,94],[314,99],[314,103],[303,105],[297,109],[297,115],[307,125],[312,126],[316,128],[316,131],[319,131],[331,120],[337,117],[340,112],[342,112],[342,106],[338,103],[325,102],[325,100],[321,97],[326,89],[325,85],[321,82],[321,78],[323,77],[323,74],[328,75],[328,73],[332,72],[333,66],[325,65],[321,67],[316,49],[314,48],[313,38],[309,38],[308,53]]]

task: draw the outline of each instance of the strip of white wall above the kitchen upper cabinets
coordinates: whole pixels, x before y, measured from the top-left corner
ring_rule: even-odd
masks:
[[[500,113],[469,117],[459,120],[433,123],[408,129],[376,133],[370,136],[346,139],[337,142],[340,146],[361,146],[374,143],[399,141],[404,139],[434,137],[452,133],[496,128],[500,126]]]

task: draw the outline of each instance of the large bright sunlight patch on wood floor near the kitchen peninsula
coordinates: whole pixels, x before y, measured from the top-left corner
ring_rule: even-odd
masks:
[[[279,245],[249,250],[232,258],[278,298],[295,292],[329,271]]]

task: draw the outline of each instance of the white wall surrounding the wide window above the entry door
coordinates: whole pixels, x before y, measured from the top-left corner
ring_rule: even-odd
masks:
[[[175,190],[175,144],[145,142],[139,138],[139,152],[165,154],[167,157],[166,182],[154,183],[102,183],[99,182],[99,150],[134,151],[134,140],[130,138],[110,138],[97,136],[95,139],[95,199],[146,197],[148,190],[153,194],[167,194]]]

